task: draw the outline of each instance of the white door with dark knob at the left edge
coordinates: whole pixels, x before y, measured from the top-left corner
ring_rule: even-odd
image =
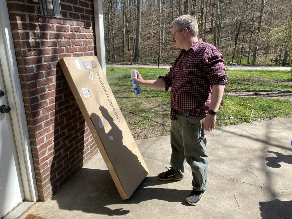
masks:
[[[11,126],[7,93],[0,65],[0,218],[24,200],[20,169]],[[13,110],[13,109],[11,109]],[[1,112],[2,111],[2,112]],[[4,112],[6,111],[6,112]]]

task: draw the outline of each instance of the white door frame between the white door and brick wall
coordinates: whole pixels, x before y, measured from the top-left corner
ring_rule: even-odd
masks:
[[[7,102],[12,109],[10,117],[21,173],[19,180],[25,200],[36,202],[38,193],[32,152],[6,0],[0,0],[0,56]]]

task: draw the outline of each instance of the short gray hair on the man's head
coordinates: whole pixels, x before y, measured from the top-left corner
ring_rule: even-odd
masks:
[[[182,31],[185,27],[194,35],[198,36],[198,22],[192,15],[182,15],[172,22],[172,26],[176,25],[176,29]]]

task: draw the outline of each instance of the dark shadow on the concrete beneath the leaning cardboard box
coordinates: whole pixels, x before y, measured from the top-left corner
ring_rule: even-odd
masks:
[[[130,206],[131,204],[148,200],[157,199],[186,205],[183,197],[190,193],[189,190],[157,188],[166,183],[179,183],[174,181],[161,181],[157,176],[146,177],[129,199],[122,200],[109,171],[82,168],[51,199],[58,202],[60,209],[109,216],[126,215],[137,208]]]

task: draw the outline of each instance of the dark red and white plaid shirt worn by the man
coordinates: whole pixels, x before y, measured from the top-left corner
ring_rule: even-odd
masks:
[[[189,50],[183,49],[173,61],[170,71],[161,77],[165,82],[165,91],[171,87],[172,120],[176,119],[176,110],[192,116],[206,116],[213,85],[226,85],[227,82],[220,51],[201,39]]]

